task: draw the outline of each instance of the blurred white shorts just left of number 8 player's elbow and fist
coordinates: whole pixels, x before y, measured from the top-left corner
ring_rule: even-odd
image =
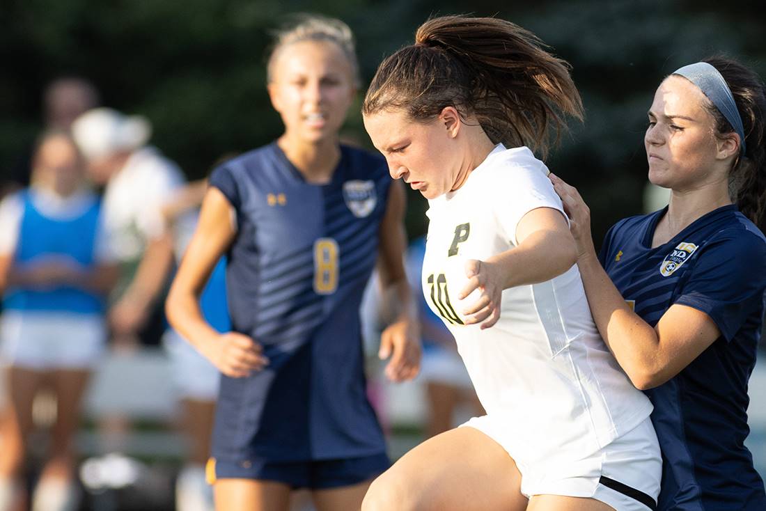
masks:
[[[174,329],[165,331],[162,346],[170,357],[173,384],[181,398],[195,401],[218,398],[220,373],[208,359]]]

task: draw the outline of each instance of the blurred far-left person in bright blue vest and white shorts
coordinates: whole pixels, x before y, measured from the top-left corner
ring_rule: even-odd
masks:
[[[77,509],[73,441],[106,342],[106,296],[117,277],[112,241],[74,141],[63,131],[44,133],[31,186],[0,203],[0,353],[13,411],[6,430],[18,435],[9,444],[4,437],[0,450],[0,509],[25,500],[32,403],[44,385],[57,413],[31,509]]]

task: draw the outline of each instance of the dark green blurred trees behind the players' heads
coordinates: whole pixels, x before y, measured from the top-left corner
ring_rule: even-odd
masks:
[[[433,2],[431,0],[25,0],[0,2],[0,165],[8,171],[41,128],[41,93],[62,74],[93,80],[103,103],[141,113],[152,142],[190,179],[227,152],[280,134],[265,91],[269,31],[291,12],[342,18],[358,38],[365,83],[382,57],[412,41],[430,15],[496,15],[529,28],[573,65],[587,111],[549,167],[591,205],[594,237],[642,211],[643,129],[660,80],[724,53],[766,76],[760,2]],[[345,135],[369,141],[354,107]],[[424,231],[410,195],[408,231]]]

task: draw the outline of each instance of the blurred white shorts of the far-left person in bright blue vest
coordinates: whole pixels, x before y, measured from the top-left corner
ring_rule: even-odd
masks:
[[[106,347],[99,314],[29,313],[0,316],[0,357],[5,365],[46,371],[93,369]]]

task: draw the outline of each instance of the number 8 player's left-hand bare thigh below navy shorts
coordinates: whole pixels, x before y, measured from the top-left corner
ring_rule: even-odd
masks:
[[[215,509],[231,511],[288,511],[290,486],[275,481],[219,479],[214,486]]]

